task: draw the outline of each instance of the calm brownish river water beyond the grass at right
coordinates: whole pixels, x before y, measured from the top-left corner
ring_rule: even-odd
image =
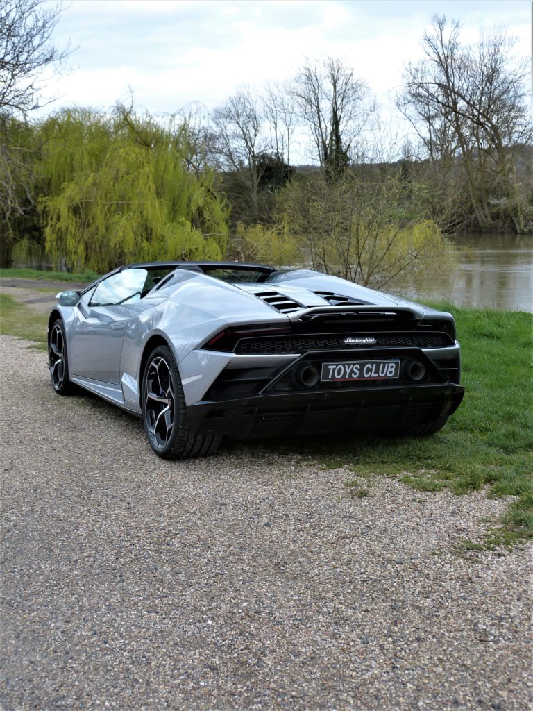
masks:
[[[456,264],[394,292],[410,299],[458,306],[533,312],[533,235],[456,235]]]

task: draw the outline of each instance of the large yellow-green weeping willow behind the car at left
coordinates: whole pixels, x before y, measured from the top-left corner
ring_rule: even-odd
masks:
[[[227,208],[188,159],[187,126],[118,107],[65,112],[43,126],[46,248],[68,269],[142,260],[220,259]]]

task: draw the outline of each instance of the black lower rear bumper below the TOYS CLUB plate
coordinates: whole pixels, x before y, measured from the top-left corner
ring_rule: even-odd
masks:
[[[225,402],[197,402],[187,408],[195,433],[233,439],[327,432],[386,431],[452,415],[463,400],[461,385],[357,387]]]

